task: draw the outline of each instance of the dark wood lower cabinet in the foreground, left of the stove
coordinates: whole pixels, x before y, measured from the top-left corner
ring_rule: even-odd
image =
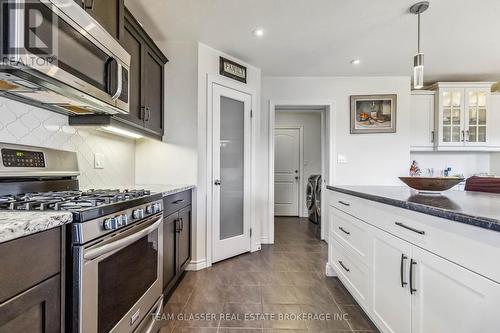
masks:
[[[0,332],[62,332],[64,227],[0,244]]]

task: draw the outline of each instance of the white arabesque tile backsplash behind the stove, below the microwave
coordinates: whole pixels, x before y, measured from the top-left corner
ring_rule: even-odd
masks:
[[[76,151],[80,187],[116,188],[134,184],[135,141],[68,125],[68,117],[0,97],[0,142]],[[105,156],[94,169],[94,153]]]

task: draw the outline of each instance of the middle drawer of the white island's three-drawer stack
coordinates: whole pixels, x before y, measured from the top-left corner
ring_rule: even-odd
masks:
[[[370,237],[369,225],[335,207],[330,209],[330,232],[333,238],[353,252],[360,261],[368,264]]]

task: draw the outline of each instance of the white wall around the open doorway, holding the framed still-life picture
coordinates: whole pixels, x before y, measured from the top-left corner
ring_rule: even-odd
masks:
[[[387,134],[355,134],[350,131],[349,96],[397,94],[397,132]],[[398,176],[407,173],[410,162],[409,103],[410,77],[263,77],[261,169],[259,189],[268,193],[269,101],[277,104],[303,105],[308,101],[334,103],[331,129],[332,161],[337,154],[347,157],[347,164],[332,163],[333,184],[397,185]],[[268,212],[262,237],[268,237]]]

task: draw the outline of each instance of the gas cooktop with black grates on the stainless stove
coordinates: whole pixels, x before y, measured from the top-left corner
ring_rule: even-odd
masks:
[[[0,196],[0,210],[65,210],[83,222],[160,198],[142,189],[33,192]]]

